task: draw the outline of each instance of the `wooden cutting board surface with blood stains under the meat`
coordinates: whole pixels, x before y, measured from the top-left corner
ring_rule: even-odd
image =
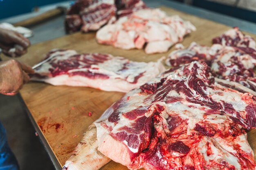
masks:
[[[203,45],[211,45],[211,39],[221,35],[230,27],[182,13],[174,9],[162,7],[168,15],[180,15],[184,20],[191,21],[197,31],[187,35],[182,42],[189,46],[193,41]],[[235,26],[235,25],[234,25]],[[256,35],[246,33],[256,39]],[[29,52],[19,60],[34,65],[42,60],[53,48],[74,49],[79,53],[110,53],[124,56],[134,61],[156,61],[167,53],[146,55],[143,50],[121,50],[112,46],[97,44],[95,33],[75,33],[61,38],[41,42],[29,48]],[[4,60],[7,60],[4,57]],[[81,140],[83,133],[93,121],[124,93],[105,92],[93,88],[52,86],[44,83],[30,82],[20,91],[32,117],[37,122],[50,148],[56,155],[61,166],[70,157],[74,148]],[[92,116],[88,116],[92,112]],[[256,130],[248,134],[249,144],[256,151]],[[119,163],[111,161],[101,170],[128,170]]]

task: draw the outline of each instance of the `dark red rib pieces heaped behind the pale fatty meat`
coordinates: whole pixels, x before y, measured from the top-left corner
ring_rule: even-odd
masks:
[[[141,0],[77,0],[67,11],[67,33],[95,31],[108,22],[146,8]]]

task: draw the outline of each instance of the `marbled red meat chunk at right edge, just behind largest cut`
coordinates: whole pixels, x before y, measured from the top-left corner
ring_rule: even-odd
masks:
[[[256,49],[215,44],[218,49],[211,63],[211,71],[219,78],[238,82],[256,91]]]

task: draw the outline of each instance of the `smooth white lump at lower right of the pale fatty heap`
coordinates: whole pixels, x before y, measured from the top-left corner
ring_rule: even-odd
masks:
[[[164,53],[164,52],[168,51],[168,49],[172,45],[173,45],[173,43],[168,40],[149,42],[146,46],[145,51],[147,54]]]

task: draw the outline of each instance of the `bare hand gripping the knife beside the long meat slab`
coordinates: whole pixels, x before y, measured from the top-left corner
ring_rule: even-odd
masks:
[[[0,62],[0,93],[4,95],[15,95],[22,85],[29,81],[29,75],[34,70],[16,60]]]

